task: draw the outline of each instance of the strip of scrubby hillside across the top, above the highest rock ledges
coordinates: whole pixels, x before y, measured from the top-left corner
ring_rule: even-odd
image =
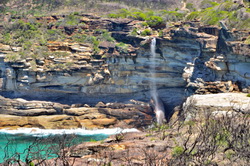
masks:
[[[111,18],[131,18],[156,26],[169,21],[200,20],[204,24],[248,29],[248,0],[2,0],[0,13],[12,17],[70,14],[72,11],[96,13]]]

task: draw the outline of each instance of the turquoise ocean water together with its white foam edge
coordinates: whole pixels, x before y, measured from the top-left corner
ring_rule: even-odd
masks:
[[[43,130],[36,128],[0,130],[0,163],[20,159],[50,159],[58,157],[60,149],[82,142],[99,141],[109,135],[121,132],[135,132],[136,129],[122,130]]]

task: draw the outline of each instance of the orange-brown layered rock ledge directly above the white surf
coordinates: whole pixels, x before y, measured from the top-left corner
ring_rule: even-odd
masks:
[[[43,128],[141,128],[152,123],[146,103],[98,103],[65,105],[46,101],[8,99],[0,96],[0,129]]]

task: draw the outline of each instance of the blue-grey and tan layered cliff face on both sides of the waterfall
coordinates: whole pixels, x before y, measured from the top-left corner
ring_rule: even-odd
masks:
[[[55,18],[46,20],[50,22]],[[154,79],[150,74],[149,47],[150,38],[154,36],[129,35],[137,21],[107,20],[89,15],[83,16],[82,21],[89,30],[101,27],[111,32],[117,41],[131,44],[127,53],[121,54],[114,44],[103,42],[99,45],[99,56],[95,58],[91,56],[93,50],[89,45],[50,42],[48,48],[51,51],[66,51],[69,56],[37,59],[34,67],[30,58],[6,62],[4,53],[10,48],[2,45],[1,93],[66,103],[124,102],[131,98],[147,101],[149,83]],[[68,33],[77,30],[77,27],[59,28]],[[190,93],[213,93],[218,81],[220,86],[225,86],[225,92],[249,88],[250,45],[243,43],[248,35],[249,32],[201,26],[197,22],[165,29],[162,38],[156,37],[155,79],[163,100],[172,109],[181,103],[186,88]],[[49,65],[63,67],[53,69],[48,68]]]

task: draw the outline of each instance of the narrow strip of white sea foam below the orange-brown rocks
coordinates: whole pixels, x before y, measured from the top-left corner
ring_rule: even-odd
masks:
[[[119,133],[127,132],[139,132],[137,129],[121,129],[121,128],[112,128],[112,129],[95,129],[95,130],[86,130],[86,129],[39,129],[39,128],[19,128],[17,130],[8,130],[1,129],[0,134],[23,134],[36,137],[49,136],[49,135],[63,135],[63,134],[75,134],[75,135],[114,135]]]

